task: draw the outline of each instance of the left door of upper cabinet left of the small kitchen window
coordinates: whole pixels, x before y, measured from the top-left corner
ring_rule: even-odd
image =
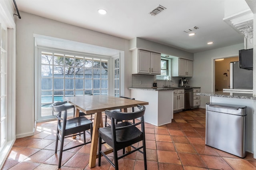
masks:
[[[150,52],[138,50],[138,73],[150,73]]]

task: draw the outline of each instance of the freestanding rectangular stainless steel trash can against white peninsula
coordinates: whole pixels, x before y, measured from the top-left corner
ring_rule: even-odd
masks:
[[[243,105],[206,103],[206,145],[244,158],[246,112]]]

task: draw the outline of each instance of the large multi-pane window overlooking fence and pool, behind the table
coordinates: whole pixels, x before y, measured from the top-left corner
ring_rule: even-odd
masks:
[[[41,71],[38,71],[38,119],[54,118],[57,113],[52,112],[51,104],[64,101],[66,96],[109,94],[110,57],[46,49],[40,49],[38,57],[41,68]],[[119,66],[116,66],[115,70],[119,74]]]

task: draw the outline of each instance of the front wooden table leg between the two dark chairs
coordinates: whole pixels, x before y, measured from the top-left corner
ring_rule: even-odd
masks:
[[[95,113],[95,116],[94,116],[92,143],[91,143],[90,159],[89,159],[89,167],[90,168],[93,168],[96,164],[98,138],[99,138],[98,129],[100,128],[100,124],[103,124],[102,123],[102,113],[98,112],[98,113]]]

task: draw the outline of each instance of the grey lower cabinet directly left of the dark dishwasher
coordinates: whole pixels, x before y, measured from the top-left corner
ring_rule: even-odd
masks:
[[[173,111],[184,109],[184,89],[173,91]]]

